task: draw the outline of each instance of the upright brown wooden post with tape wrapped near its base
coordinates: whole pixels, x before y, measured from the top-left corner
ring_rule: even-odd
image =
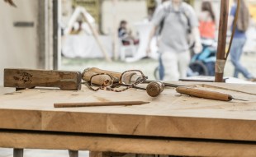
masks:
[[[216,75],[215,75],[216,82],[223,82],[228,16],[229,16],[229,0],[221,0],[218,48],[217,48],[217,54],[216,54]]]

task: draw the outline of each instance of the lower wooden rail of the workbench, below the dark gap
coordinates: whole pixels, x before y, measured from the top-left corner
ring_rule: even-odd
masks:
[[[249,142],[147,139],[137,137],[87,136],[47,132],[0,132],[0,146],[49,150],[91,150],[151,155],[255,156]],[[97,155],[95,155],[97,156]]]

